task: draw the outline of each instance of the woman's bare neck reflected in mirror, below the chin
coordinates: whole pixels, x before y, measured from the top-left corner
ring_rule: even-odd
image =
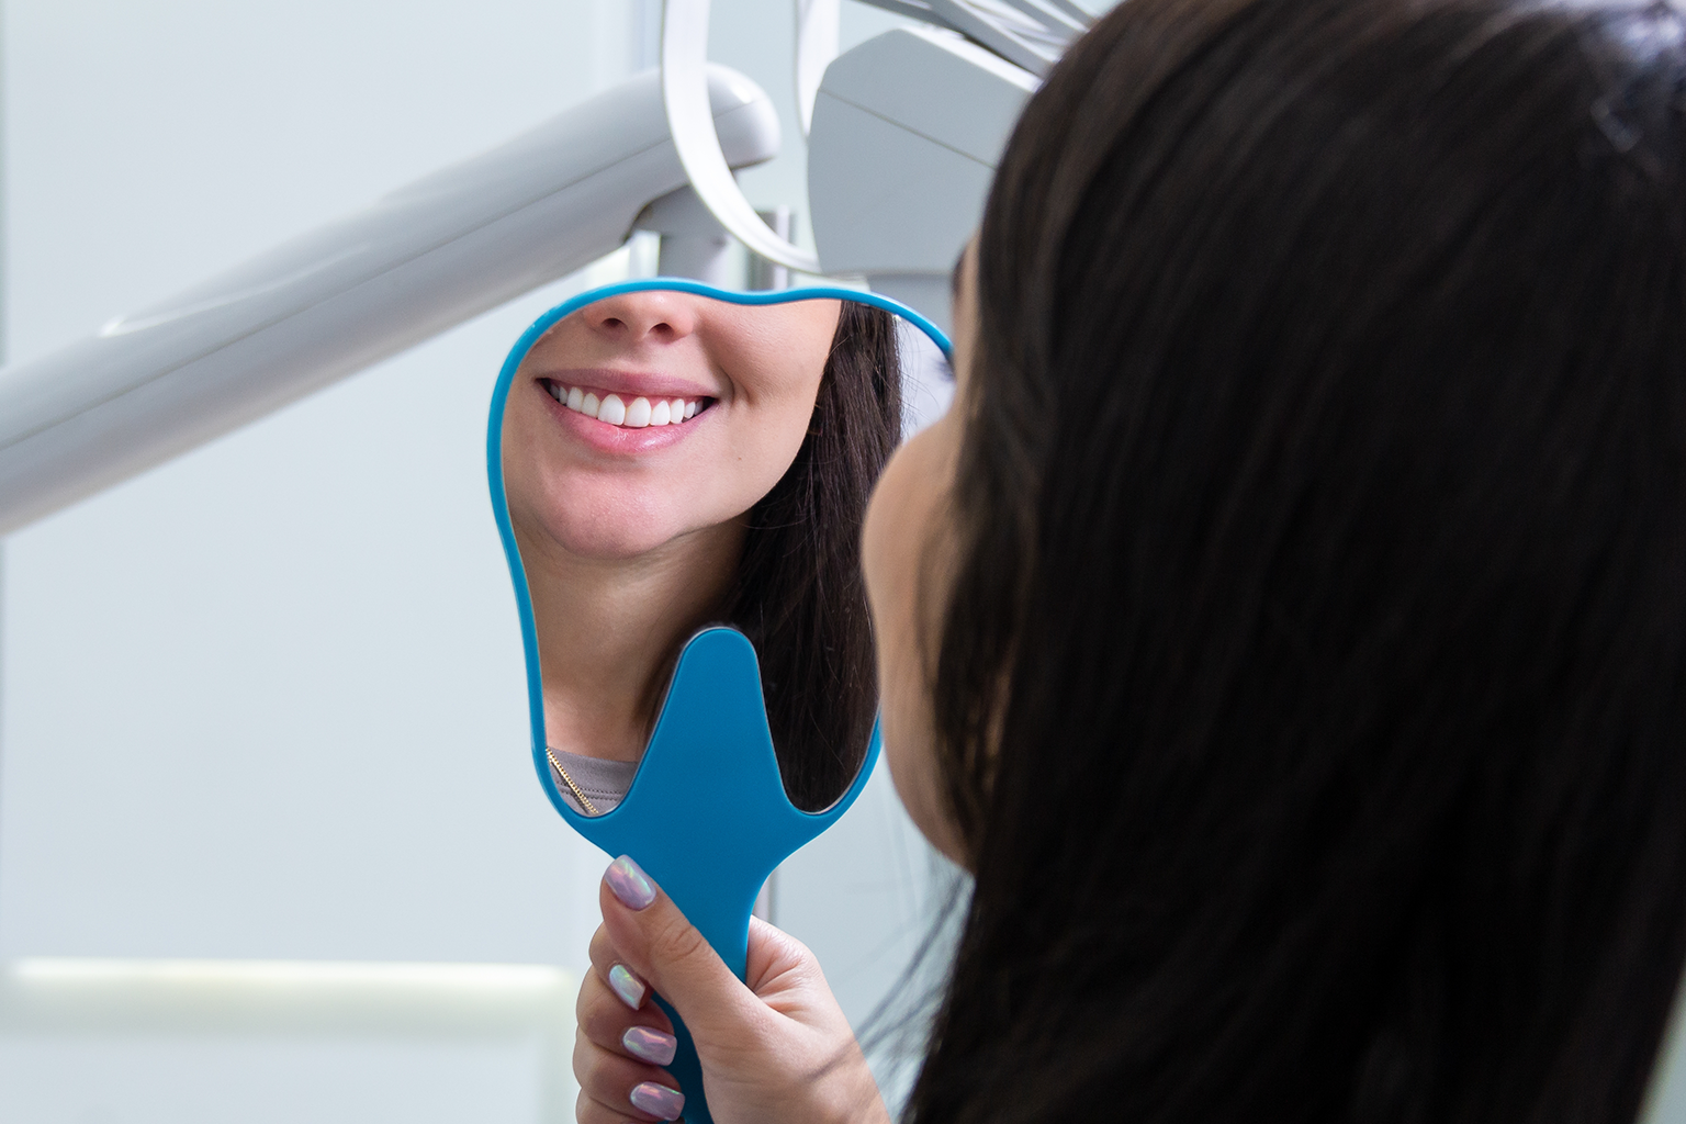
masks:
[[[545,733],[570,753],[644,755],[679,645],[717,620],[744,551],[737,521],[602,561],[518,531],[545,679]]]

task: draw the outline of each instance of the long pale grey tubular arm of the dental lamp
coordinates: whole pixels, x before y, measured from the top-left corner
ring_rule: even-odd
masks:
[[[779,118],[708,67],[732,167]],[[0,534],[585,266],[686,184],[661,76],[386,195],[94,335],[0,369]]]

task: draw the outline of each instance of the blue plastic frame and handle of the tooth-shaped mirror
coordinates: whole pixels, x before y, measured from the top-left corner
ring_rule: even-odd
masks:
[[[528,351],[551,325],[572,312],[620,293],[651,290],[693,293],[733,305],[853,300],[902,317],[931,337],[944,357],[951,357],[953,347],[948,335],[931,320],[877,293],[841,286],[742,293],[685,278],[658,276],[593,288],[541,315],[509,351],[497,386],[492,389],[492,408],[486,426],[486,479],[521,617],[528,721],[533,735],[533,767],[538,770],[540,784],[556,812],[575,831],[609,854],[631,854],[742,979],[749,949],[749,918],[760,886],[779,863],[836,822],[862,794],[878,762],[878,726],[873,725],[860,772],[831,807],[821,812],[794,807],[784,794],[779,760],[772,750],[754,647],[735,629],[703,629],[679,652],[656,730],[626,799],[602,816],[577,812],[556,789],[545,755],[545,684],[538,630],[533,622],[526,568],[521,565],[504,495],[504,403]],[[685,1119],[691,1124],[710,1124],[696,1052],[671,1008],[668,1014],[673,1016],[679,1036],[679,1053],[668,1070],[683,1085]]]

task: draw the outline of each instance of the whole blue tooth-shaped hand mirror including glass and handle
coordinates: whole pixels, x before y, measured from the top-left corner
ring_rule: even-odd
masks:
[[[654,278],[546,312],[492,393],[540,784],[740,977],[762,885],[877,760],[860,521],[904,391],[948,351],[870,293]],[[673,1021],[668,1070],[705,1122]]]

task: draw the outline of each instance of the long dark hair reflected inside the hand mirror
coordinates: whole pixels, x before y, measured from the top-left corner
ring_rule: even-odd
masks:
[[[878,711],[860,524],[902,436],[895,317],[843,302],[814,418],[796,460],[749,512],[723,618],[760,659],[784,790],[803,811],[860,772]]]

